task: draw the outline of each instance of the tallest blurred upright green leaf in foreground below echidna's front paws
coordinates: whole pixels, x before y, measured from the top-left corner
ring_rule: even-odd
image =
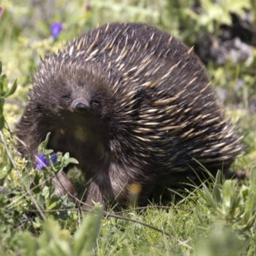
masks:
[[[74,256],[90,255],[96,243],[102,218],[102,206],[97,205],[82,221],[81,227],[74,236]]]

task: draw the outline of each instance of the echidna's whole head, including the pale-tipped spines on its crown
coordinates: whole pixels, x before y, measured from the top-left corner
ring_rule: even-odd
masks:
[[[69,66],[65,61],[49,58],[38,68],[31,102],[45,118],[56,118],[68,122],[67,125],[90,125],[93,120],[108,122],[113,115],[109,83],[99,65]]]

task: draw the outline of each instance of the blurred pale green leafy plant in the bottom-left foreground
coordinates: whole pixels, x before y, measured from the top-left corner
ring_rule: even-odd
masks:
[[[83,219],[74,234],[73,242],[70,243],[68,230],[61,230],[60,225],[49,218],[45,221],[43,232],[38,238],[33,237],[29,232],[24,234],[21,255],[93,255],[93,247],[99,235],[101,219],[102,207],[97,205]]]

